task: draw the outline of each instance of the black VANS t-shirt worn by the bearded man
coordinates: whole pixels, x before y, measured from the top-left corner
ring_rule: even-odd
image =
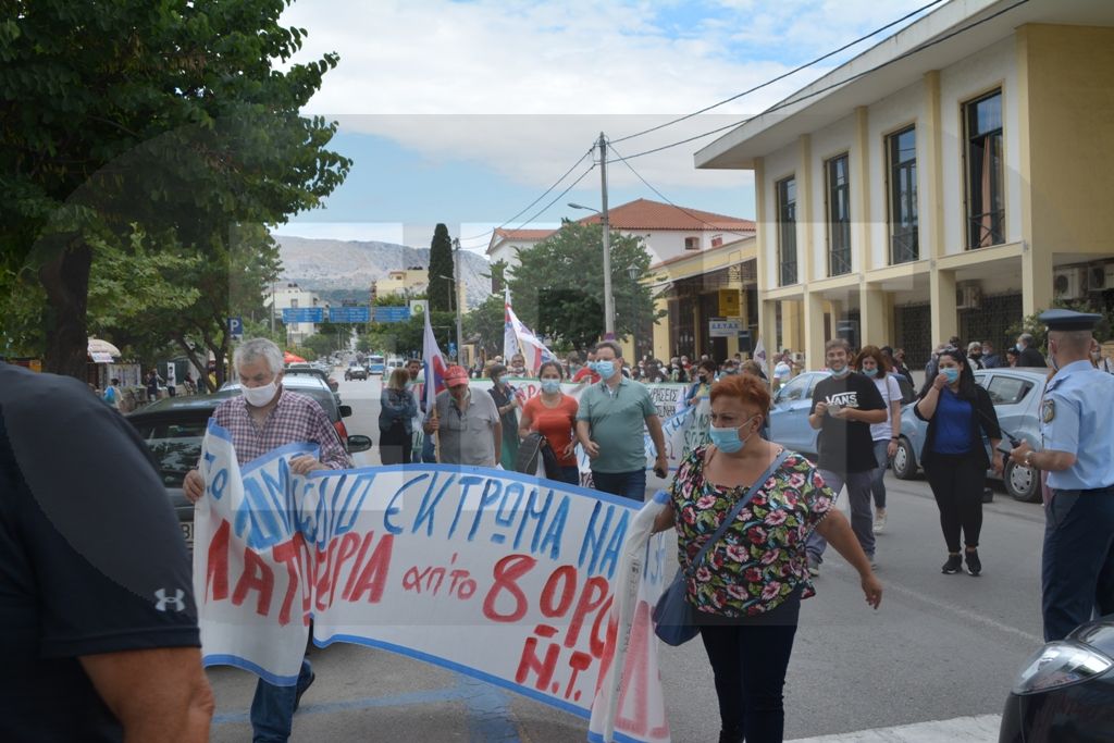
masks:
[[[858,372],[851,372],[843,379],[829,377],[817,382],[809,414],[815,411],[818,402],[827,402],[829,407],[886,410],[886,402],[874,382]],[[827,414],[817,444],[820,449],[820,461],[817,463],[821,469],[846,473],[866,472],[878,467],[870,423],[846,421]]]

